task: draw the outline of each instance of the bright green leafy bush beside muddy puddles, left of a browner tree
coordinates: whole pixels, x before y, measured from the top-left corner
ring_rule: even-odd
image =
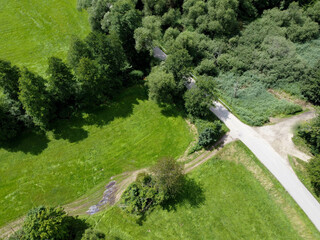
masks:
[[[164,200],[164,192],[156,185],[153,177],[140,173],[122,195],[124,209],[132,214],[144,215]]]

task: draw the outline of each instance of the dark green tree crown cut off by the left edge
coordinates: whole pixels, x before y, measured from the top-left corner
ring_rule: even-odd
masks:
[[[0,87],[13,100],[18,100],[20,70],[0,59]]]

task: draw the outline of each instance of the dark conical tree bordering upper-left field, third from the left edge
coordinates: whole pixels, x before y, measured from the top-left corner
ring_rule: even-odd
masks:
[[[48,92],[57,101],[67,104],[75,93],[75,81],[70,68],[59,58],[49,58]]]

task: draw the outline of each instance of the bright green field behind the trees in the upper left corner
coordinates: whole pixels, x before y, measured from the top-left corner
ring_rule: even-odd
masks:
[[[0,58],[44,74],[48,57],[66,58],[72,35],[90,27],[76,0],[0,0]]]

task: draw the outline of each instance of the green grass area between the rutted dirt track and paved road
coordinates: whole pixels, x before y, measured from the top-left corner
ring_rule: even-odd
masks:
[[[189,174],[196,185],[185,201],[169,211],[153,211],[142,225],[119,207],[88,220],[108,239],[319,239],[309,220],[301,213],[292,213],[289,218],[257,178],[237,163],[239,157],[245,158],[260,169],[245,149],[241,142],[224,147]],[[276,197],[288,197],[285,191],[274,191]],[[291,209],[291,202],[285,202],[284,208]],[[300,233],[289,219],[302,227]]]

